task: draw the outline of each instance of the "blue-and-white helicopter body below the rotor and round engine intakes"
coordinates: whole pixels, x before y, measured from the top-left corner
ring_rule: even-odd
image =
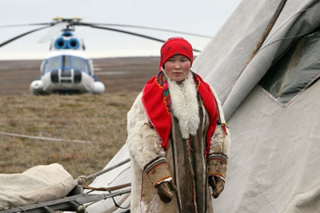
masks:
[[[64,43],[57,44],[60,41],[55,40],[55,48],[43,60],[40,76],[30,84],[30,91],[35,95],[104,93],[105,87],[94,74],[92,60],[78,49],[79,43],[75,44],[77,48],[59,48],[59,45],[65,46]]]

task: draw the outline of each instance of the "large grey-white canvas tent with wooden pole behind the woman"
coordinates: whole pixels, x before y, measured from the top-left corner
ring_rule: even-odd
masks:
[[[223,103],[232,140],[215,213],[320,212],[319,44],[320,0],[242,0],[194,61]],[[106,168],[127,157],[124,146]],[[129,165],[92,186],[105,180],[128,182]],[[126,207],[123,198],[116,202]]]

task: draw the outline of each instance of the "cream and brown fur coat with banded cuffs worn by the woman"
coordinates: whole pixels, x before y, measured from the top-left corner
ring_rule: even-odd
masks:
[[[168,87],[172,116],[167,151],[161,147],[160,138],[148,122],[142,93],[127,114],[126,143],[132,167],[131,212],[212,213],[207,177],[215,175],[224,180],[230,146],[223,113],[219,111],[220,121],[211,136],[209,153],[205,155],[209,116],[192,77],[189,74],[180,85],[168,79]],[[211,91],[217,100],[212,88]],[[221,109],[218,100],[217,105]],[[177,186],[169,203],[161,202],[155,189],[163,181],[173,181]]]

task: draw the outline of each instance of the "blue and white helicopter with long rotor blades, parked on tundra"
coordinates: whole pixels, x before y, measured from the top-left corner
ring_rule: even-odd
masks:
[[[98,81],[94,73],[92,59],[88,58],[85,54],[85,45],[82,39],[79,39],[75,34],[75,26],[88,26],[92,28],[111,30],[121,33],[127,33],[151,39],[159,42],[165,42],[165,40],[113,28],[118,27],[133,27],[143,28],[159,31],[167,31],[174,33],[189,34],[193,36],[200,36],[211,38],[210,36],[200,35],[189,32],[181,32],[176,30],[160,29],[154,27],[144,27],[136,25],[125,24],[107,24],[107,23],[86,23],[81,21],[82,18],[53,18],[52,22],[47,23],[30,23],[30,24],[15,24],[15,25],[3,25],[0,27],[12,27],[12,26],[25,26],[25,25],[42,25],[39,28],[32,29],[17,35],[7,41],[0,43],[0,47],[10,43],[22,36],[30,34],[35,31],[39,31],[49,27],[62,28],[57,36],[51,39],[49,52],[43,59],[40,65],[40,75],[37,80],[33,80],[29,86],[29,90],[34,95],[44,95],[50,93],[59,94],[82,94],[93,93],[103,94],[105,93],[105,86],[102,82]],[[109,27],[112,26],[112,27]],[[197,49],[193,49],[195,52],[200,52]]]

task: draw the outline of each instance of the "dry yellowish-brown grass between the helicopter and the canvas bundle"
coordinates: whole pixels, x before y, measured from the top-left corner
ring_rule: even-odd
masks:
[[[126,113],[138,92],[0,97],[0,131],[90,141],[54,142],[0,135],[0,173],[61,164],[74,178],[100,171],[125,143]]]

